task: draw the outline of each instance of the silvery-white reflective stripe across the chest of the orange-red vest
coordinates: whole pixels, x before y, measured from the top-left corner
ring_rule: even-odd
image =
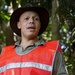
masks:
[[[36,63],[36,62],[19,62],[19,63],[10,63],[3,67],[0,67],[0,73],[11,68],[24,68],[24,67],[35,67],[46,71],[52,71],[52,66]]]

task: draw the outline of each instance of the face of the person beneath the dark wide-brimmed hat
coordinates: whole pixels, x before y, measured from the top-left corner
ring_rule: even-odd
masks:
[[[40,17],[34,11],[24,12],[17,23],[18,28],[21,29],[21,36],[25,38],[37,37],[40,30]]]

